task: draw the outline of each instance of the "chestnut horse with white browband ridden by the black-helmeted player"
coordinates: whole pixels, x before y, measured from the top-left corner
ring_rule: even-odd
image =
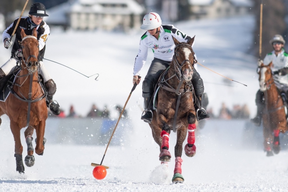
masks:
[[[33,35],[26,35],[21,29],[23,59],[20,61],[20,72],[15,75],[15,83],[10,89],[10,94],[5,102],[0,102],[0,116],[6,114],[10,119],[10,128],[15,141],[16,171],[24,173],[22,160],[23,147],[20,140],[20,130],[25,130],[27,143],[27,156],[25,164],[28,167],[34,165],[34,149],[32,146],[32,134],[36,130],[36,148],[38,155],[43,155],[45,121],[48,111],[45,101],[45,91],[38,78],[39,70],[39,44],[37,31]]]

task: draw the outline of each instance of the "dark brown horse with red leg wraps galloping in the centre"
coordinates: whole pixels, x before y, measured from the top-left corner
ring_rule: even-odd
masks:
[[[195,36],[194,36],[195,37]],[[153,111],[153,119],[150,125],[155,142],[160,147],[159,160],[162,163],[170,161],[169,134],[173,130],[177,132],[175,146],[175,169],[172,178],[173,183],[183,183],[181,175],[181,159],[183,142],[187,135],[188,144],[185,146],[185,154],[192,157],[196,153],[195,133],[196,112],[193,104],[193,86],[191,83],[194,63],[197,62],[191,45],[194,37],[187,43],[180,43],[174,37],[176,45],[173,60],[162,76],[161,87],[158,93],[158,108]]]

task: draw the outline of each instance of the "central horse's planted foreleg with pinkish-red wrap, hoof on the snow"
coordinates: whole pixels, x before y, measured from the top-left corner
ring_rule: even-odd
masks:
[[[174,176],[172,178],[172,182],[173,183],[183,183],[184,182],[184,178],[181,175],[182,174],[182,169],[181,169],[181,165],[182,165],[182,150],[183,150],[183,142],[186,138],[187,135],[187,129],[178,129],[177,130],[177,142],[175,145],[175,168],[174,168]]]

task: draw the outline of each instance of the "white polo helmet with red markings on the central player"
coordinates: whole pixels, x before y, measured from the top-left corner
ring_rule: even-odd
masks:
[[[141,29],[144,30],[152,30],[160,27],[162,25],[162,20],[158,13],[150,12],[147,13],[143,18],[143,24],[141,25]]]

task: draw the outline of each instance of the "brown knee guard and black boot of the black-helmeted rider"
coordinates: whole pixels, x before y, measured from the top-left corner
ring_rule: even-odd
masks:
[[[46,99],[46,105],[50,109],[50,111],[55,114],[59,115],[60,114],[60,109],[59,109],[59,104],[55,100],[53,100],[53,95],[56,92],[56,84],[52,79],[49,79],[48,81],[45,82],[45,88],[48,92],[48,96]]]

